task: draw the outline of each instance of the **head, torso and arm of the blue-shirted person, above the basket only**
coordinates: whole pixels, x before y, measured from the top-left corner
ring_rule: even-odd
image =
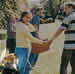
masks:
[[[40,27],[40,16],[42,15],[42,8],[36,9],[36,14],[32,17],[31,24],[36,29],[36,37],[40,39],[39,37],[39,27]]]

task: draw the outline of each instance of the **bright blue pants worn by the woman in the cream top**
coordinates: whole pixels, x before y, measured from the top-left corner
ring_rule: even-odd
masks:
[[[20,74],[27,74],[25,72],[25,68],[27,65],[27,59],[28,59],[28,48],[16,48],[15,53],[18,57],[18,72]]]

